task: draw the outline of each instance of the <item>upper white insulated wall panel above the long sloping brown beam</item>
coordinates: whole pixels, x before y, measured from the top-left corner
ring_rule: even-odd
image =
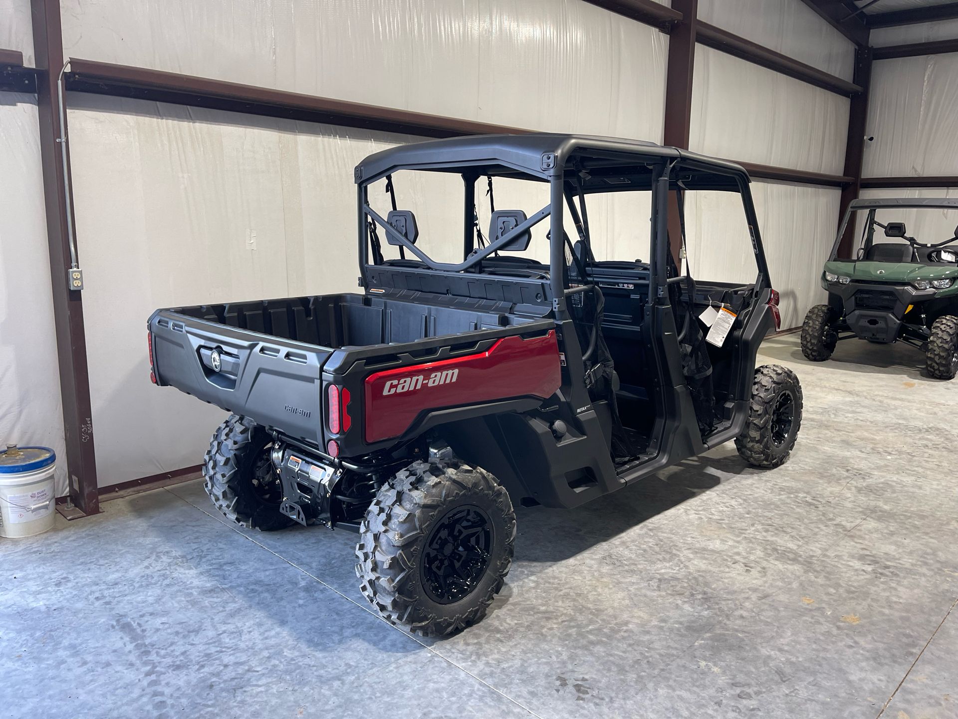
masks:
[[[517,128],[662,137],[667,35],[582,0],[62,7],[74,58]]]

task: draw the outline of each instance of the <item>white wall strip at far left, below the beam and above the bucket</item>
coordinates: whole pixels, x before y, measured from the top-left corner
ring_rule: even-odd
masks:
[[[0,446],[8,442],[52,447],[57,495],[66,494],[36,97],[0,92]]]

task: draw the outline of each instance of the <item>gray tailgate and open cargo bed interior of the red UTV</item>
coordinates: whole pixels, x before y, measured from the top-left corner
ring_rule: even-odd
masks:
[[[336,348],[372,348],[367,351],[376,356],[414,353],[415,343],[429,337],[532,320],[497,312],[509,309],[501,303],[429,296],[435,304],[341,294],[160,310],[150,318],[156,376],[161,384],[322,446],[322,373]],[[380,353],[376,345],[384,343],[392,346]]]

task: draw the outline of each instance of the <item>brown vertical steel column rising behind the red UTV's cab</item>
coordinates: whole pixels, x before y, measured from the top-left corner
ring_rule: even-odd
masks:
[[[673,10],[682,13],[669,35],[669,65],[665,81],[665,128],[663,144],[688,149],[692,128],[692,77],[696,66],[698,0],[673,0]],[[682,246],[677,197],[669,197],[669,244],[675,265],[681,270]]]

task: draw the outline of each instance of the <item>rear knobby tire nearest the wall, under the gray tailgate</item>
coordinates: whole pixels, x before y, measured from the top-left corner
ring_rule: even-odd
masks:
[[[272,437],[253,420],[230,415],[206,452],[203,486],[227,519],[248,529],[284,529],[293,520],[280,513],[283,488],[269,459]]]

